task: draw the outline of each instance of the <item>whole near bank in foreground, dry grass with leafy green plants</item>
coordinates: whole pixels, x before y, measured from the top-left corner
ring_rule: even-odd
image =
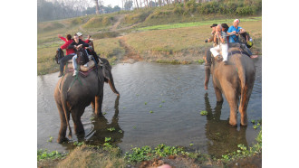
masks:
[[[155,148],[143,146],[132,148],[122,154],[121,149],[105,143],[101,146],[80,144],[69,154],[38,154],[38,167],[158,167],[169,164],[172,167],[262,167],[262,131],[256,137],[256,144],[232,154],[215,158],[200,152],[187,152],[183,147],[158,145]],[[44,155],[42,157],[41,155]]]

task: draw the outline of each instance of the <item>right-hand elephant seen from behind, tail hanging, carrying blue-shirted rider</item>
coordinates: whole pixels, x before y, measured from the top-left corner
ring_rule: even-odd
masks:
[[[216,61],[211,57],[210,67],[206,66],[205,88],[212,75],[213,86],[217,102],[222,102],[222,94],[227,98],[230,107],[229,124],[236,126],[237,107],[241,115],[241,126],[247,126],[247,105],[251,96],[256,79],[256,68],[244,51],[239,48],[229,48],[228,64],[223,61]],[[207,54],[210,52],[206,51]],[[238,105],[239,103],[239,105]]]

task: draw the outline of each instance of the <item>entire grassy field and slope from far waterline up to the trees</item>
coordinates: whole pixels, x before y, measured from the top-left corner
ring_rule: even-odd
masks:
[[[121,14],[121,15],[120,15]],[[113,24],[123,17],[116,31],[111,32]],[[38,23],[37,32],[37,74],[43,75],[58,71],[53,60],[55,51],[63,41],[57,34],[92,34],[95,51],[101,57],[109,59],[111,64],[127,62],[124,45],[143,61],[192,63],[201,60],[204,51],[211,47],[205,43],[210,35],[212,23],[231,25],[236,16],[220,14],[179,15],[171,9],[158,8],[153,11],[135,10],[114,14],[87,15],[59,21]],[[240,17],[239,17],[240,18]],[[241,17],[240,26],[245,28],[254,39],[252,51],[262,54],[262,18],[261,16]],[[134,25],[134,26],[132,26]],[[127,27],[126,26],[130,26]],[[130,59],[130,57],[129,57]]]

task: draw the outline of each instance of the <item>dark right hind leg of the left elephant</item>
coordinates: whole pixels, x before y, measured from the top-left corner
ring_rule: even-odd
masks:
[[[84,134],[84,127],[81,122],[81,117],[84,112],[84,107],[73,107],[72,108],[72,121],[76,135]]]

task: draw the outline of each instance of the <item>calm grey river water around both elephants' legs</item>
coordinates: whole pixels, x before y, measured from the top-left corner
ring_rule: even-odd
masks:
[[[247,107],[248,121],[262,118],[262,58],[255,59],[256,82]],[[124,152],[133,147],[159,144],[179,145],[190,151],[221,157],[234,152],[236,145],[252,146],[259,129],[229,126],[229,106],[225,99],[217,105],[210,79],[204,89],[204,65],[172,65],[149,62],[117,64],[112,68],[115,86],[121,97],[104,86],[102,111],[104,117],[94,117],[92,107],[82,116],[85,143],[103,144],[111,137],[112,144]],[[38,149],[69,151],[77,141],[56,143],[60,118],[53,98],[58,73],[37,79],[37,147]],[[207,116],[200,111],[207,110]],[[72,119],[70,122],[73,130]],[[114,131],[108,130],[114,128]],[[68,133],[68,132],[67,132]],[[49,142],[50,136],[53,141]],[[192,144],[192,145],[190,145]]]

